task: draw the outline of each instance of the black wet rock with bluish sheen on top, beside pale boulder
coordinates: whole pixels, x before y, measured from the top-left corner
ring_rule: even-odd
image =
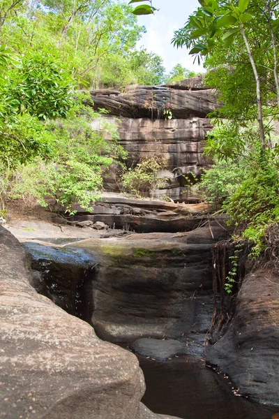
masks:
[[[96,260],[82,249],[63,249],[26,242],[32,256],[33,286],[61,309],[90,321]],[[85,308],[86,307],[86,308]]]

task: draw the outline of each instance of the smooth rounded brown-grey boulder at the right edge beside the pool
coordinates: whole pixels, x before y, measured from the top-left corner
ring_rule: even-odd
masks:
[[[229,329],[206,351],[206,359],[229,374],[241,394],[268,404],[279,403],[278,304],[278,274],[248,274]]]

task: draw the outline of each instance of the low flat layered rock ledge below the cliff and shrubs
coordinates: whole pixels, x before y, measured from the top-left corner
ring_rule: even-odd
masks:
[[[177,233],[190,231],[206,221],[211,212],[210,205],[166,203],[158,200],[129,199],[117,193],[103,193],[98,203],[93,203],[91,213],[84,212],[80,205],[74,205],[75,216],[55,217],[59,223],[91,221],[103,222],[111,228],[123,228],[137,233]],[[65,209],[62,207],[60,211]],[[80,224],[79,224],[80,225]]]

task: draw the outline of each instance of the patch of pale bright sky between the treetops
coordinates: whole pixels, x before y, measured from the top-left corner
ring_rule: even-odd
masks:
[[[177,49],[171,44],[174,31],[183,27],[188,16],[198,7],[197,0],[153,0],[153,6],[160,8],[154,15],[140,16],[139,24],[146,27],[146,34],[137,43],[149,52],[156,52],[164,60],[164,66],[170,71],[176,64],[191,71],[203,71],[202,66],[193,64],[193,57],[185,47]]]

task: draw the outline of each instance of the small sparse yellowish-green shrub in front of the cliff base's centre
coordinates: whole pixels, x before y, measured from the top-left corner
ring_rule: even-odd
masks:
[[[128,169],[123,179],[123,189],[130,193],[141,196],[143,191],[149,191],[153,198],[154,189],[162,184],[162,179],[158,177],[158,172],[164,167],[164,162],[158,157],[143,160],[137,163],[134,169]]]

